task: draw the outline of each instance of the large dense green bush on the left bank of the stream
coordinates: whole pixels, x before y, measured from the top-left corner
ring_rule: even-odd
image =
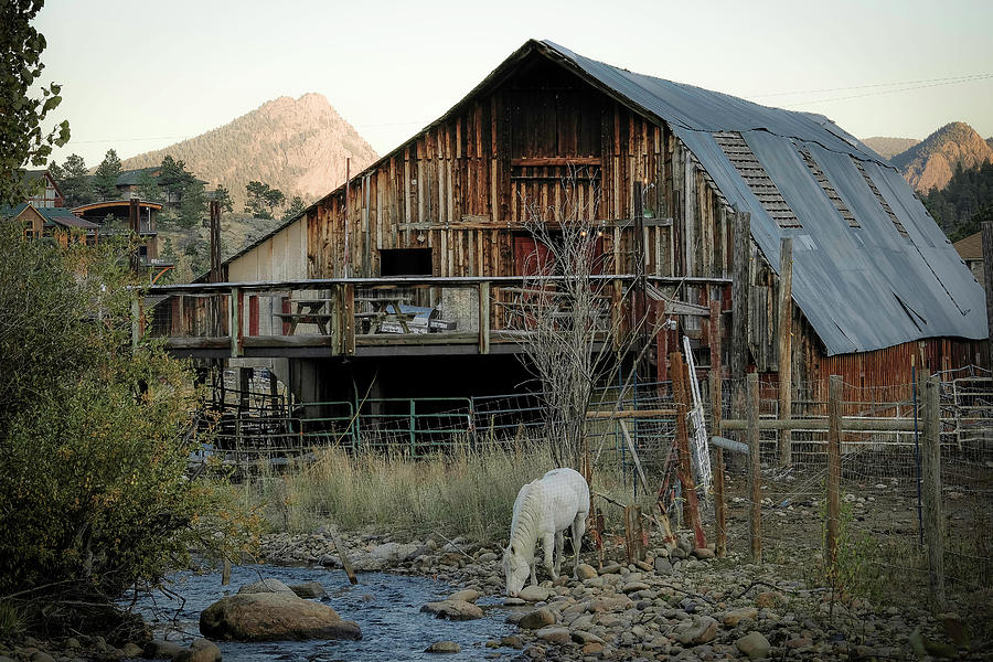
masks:
[[[0,227],[0,365],[17,365],[0,381],[0,595],[64,628],[255,526],[185,478],[197,393],[160,345],[131,348],[129,248]]]

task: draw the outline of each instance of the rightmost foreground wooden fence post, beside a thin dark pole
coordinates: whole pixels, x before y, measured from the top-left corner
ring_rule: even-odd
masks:
[[[921,371],[923,383],[923,477],[925,537],[928,545],[928,567],[931,601],[944,607],[944,520],[941,514],[941,413],[938,402],[939,378]]]

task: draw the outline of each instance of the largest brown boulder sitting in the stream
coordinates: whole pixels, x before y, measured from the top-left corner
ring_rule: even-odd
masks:
[[[212,639],[362,639],[355,621],[342,620],[327,605],[296,594],[238,594],[222,598],[200,615],[200,632]]]

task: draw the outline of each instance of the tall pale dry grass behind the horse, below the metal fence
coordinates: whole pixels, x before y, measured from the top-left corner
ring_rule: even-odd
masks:
[[[342,530],[417,536],[439,532],[495,541],[506,535],[514,499],[524,483],[553,468],[547,446],[458,450],[412,459],[401,452],[322,450],[317,462],[244,483],[274,531]],[[594,477],[594,490],[629,502],[619,477]],[[608,519],[618,519],[605,505]],[[611,517],[611,515],[613,515]]]

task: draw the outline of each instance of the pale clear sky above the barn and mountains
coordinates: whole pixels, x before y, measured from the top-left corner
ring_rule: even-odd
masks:
[[[851,134],[993,136],[993,1],[477,3],[47,0],[42,81],[63,85],[55,153],[96,166],[317,92],[380,153],[444,114],[527,39]]]

